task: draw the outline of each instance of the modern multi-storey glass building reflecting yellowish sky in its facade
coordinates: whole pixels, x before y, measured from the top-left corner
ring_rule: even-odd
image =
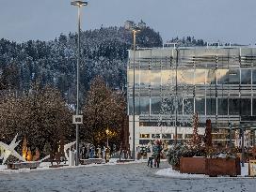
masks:
[[[135,73],[134,73],[135,62]],[[201,135],[206,120],[213,140],[232,140],[235,128],[254,128],[256,115],[256,48],[201,47],[129,51],[128,114],[130,147],[133,143],[133,86],[135,75],[136,146],[161,139],[173,143],[191,137],[192,116],[200,118]],[[255,126],[256,127],[256,126]],[[250,144],[255,132],[247,133]]]

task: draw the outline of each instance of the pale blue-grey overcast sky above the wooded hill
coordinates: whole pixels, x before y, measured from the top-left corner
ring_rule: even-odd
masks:
[[[0,38],[50,40],[77,31],[69,0],[1,0]],[[256,43],[256,0],[89,0],[82,29],[142,19],[164,41],[194,36],[209,42]]]

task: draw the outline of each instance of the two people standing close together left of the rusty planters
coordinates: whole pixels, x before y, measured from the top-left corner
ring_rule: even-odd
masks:
[[[162,153],[163,147],[161,140],[155,140],[153,143],[150,143],[148,146],[148,166],[152,168],[152,161],[153,166],[159,168],[160,158]]]

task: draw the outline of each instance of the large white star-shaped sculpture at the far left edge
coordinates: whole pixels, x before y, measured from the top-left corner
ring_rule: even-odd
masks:
[[[23,156],[19,155],[19,154],[14,150],[15,147],[17,147],[17,145],[18,145],[19,142],[21,141],[21,140],[19,140],[18,142],[16,142],[17,137],[18,137],[18,134],[17,134],[17,135],[15,136],[15,138],[10,142],[9,145],[6,144],[6,143],[4,143],[4,142],[2,142],[2,141],[0,141],[0,147],[3,149],[3,152],[4,152],[4,153],[1,155],[1,157],[0,157],[1,159],[3,159],[3,164],[6,163],[6,161],[7,161],[9,155],[13,155],[13,156],[17,157],[17,158],[18,158],[19,160],[21,160],[21,161],[26,161]]]

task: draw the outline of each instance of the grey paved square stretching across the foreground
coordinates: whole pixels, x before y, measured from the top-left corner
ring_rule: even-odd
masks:
[[[166,162],[160,169],[167,168]],[[145,163],[0,173],[0,191],[251,191],[256,179],[173,179],[156,176]]]

